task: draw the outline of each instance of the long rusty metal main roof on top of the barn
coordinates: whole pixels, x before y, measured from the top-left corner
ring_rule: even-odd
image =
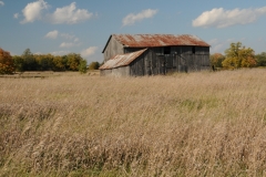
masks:
[[[112,34],[120,43],[130,48],[196,45],[209,46],[196,35],[183,34]]]

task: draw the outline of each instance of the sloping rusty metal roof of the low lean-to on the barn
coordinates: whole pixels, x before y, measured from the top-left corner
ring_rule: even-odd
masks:
[[[120,66],[129,65],[131,62],[133,62],[136,58],[139,58],[141,54],[143,54],[147,49],[140,50],[132,53],[125,53],[125,54],[116,54],[114,58],[106,61],[100,70],[108,70],[108,69],[115,69]]]

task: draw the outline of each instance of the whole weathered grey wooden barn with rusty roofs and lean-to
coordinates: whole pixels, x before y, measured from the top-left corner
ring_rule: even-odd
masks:
[[[141,76],[209,70],[209,45],[195,35],[112,34],[101,75]]]

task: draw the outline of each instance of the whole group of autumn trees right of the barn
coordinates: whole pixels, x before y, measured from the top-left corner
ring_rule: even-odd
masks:
[[[255,54],[252,48],[245,48],[241,42],[231,43],[225,55],[211,54],[211,64],[214,70],[266,66],[266,52]]]

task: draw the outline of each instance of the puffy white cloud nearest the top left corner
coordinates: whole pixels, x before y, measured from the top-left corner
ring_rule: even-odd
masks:
[[[22,24],[28,22],[34,22],[35,20],[42,19],[43,10],[48,9],[48,3],[44,0],[38,0],[35,2],[28,3],[22,10],[24,20],[21,21]]]

